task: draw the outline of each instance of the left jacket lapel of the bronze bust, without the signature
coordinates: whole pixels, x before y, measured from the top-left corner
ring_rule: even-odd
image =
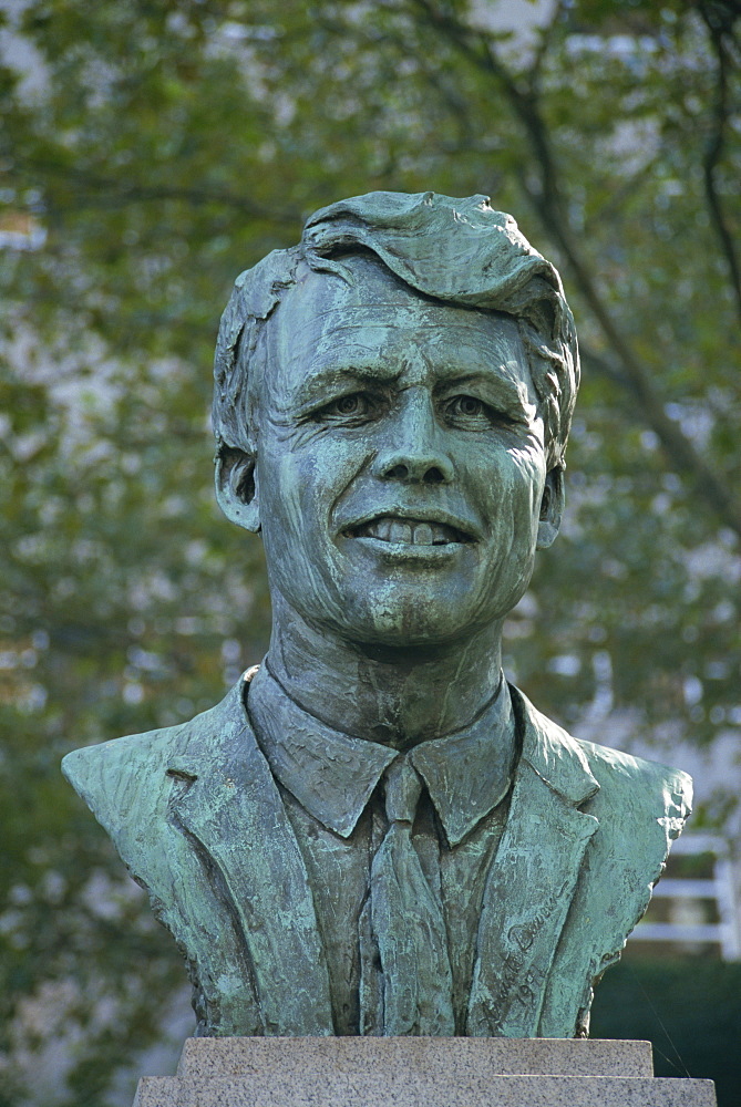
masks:
[[[251,956],[265,1034],[332,1034],[306,867],[249,726],[243,690],[240,681],[223,710],[209,713],[208,728],[196,728],[171,761],[169,775],[183,782],[173,818],[200,845],[228,896]]]

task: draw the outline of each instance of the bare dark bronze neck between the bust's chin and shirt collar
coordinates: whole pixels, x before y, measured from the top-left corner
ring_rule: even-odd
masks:
[[[497,623],[445,648],[362,646],[280,604],[267,663],[291,699],[328,726],[404,749],[476,718],[498,689],[501,638]]]

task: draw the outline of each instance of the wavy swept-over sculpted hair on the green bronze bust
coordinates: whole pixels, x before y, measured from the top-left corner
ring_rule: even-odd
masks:
[[[352,282],[341,259],[353,251],[371,251],[424,296],[516,319],[541,401],[548,465],[563,466],[579,354],[560,277],[488,197],[435,193],[368,193],[331,204],[307,220],[298,246],[274,250],[237,278],[214,361],[218,449],[251,449],[248,379],[265,372],[265,325],[301,262]]]

